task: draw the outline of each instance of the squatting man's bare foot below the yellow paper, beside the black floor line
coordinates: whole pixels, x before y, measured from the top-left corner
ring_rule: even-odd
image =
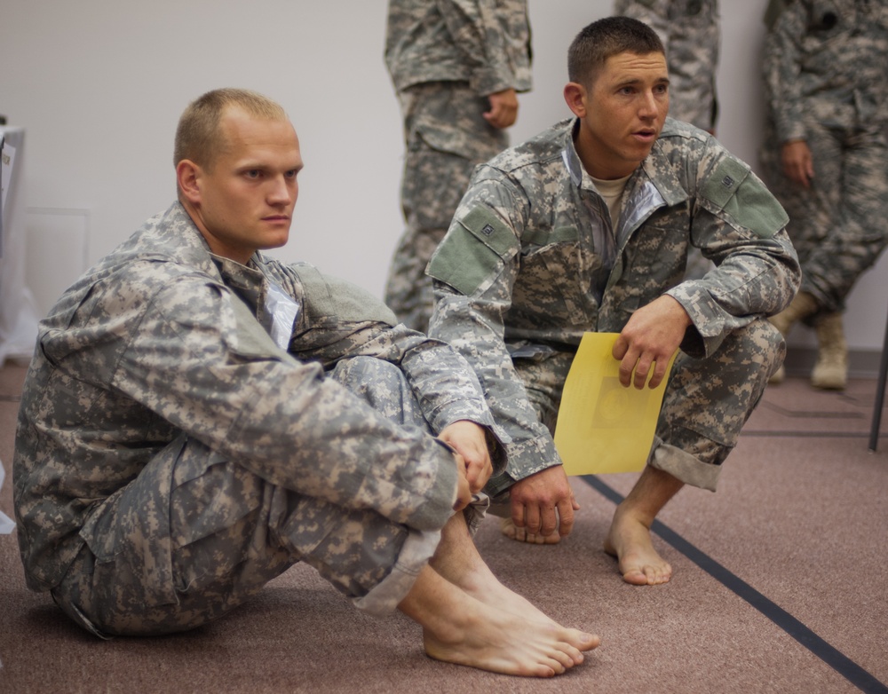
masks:
[[[614,513],[605,551],[617,558],[622,580],[635,586],[656,586],[672,576],[672,567],[654,549],[650,528],[621,508]]]

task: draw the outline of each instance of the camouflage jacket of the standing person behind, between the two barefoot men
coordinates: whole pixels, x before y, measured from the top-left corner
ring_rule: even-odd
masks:
[[[385,65],[397,91],[468,82],[481,96],[528,91],[527,0],[389,0]]]

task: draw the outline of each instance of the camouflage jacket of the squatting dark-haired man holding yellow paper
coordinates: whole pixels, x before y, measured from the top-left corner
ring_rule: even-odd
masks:
[[[429,265],[430,335],[475,368],[511,437],[515,480],[560,461],[512,357],[575,351],[584,331],[619,332],[664,293],[693,321],[682,349],[708,356],[731,330],[781,311],[800,276],[786,213],[765,185],[716,139],[670,118],[626,184],[614,235],[576,153],[575,124],[560,122],[475,170]],[[691,244],[718,267],[682,282]]]

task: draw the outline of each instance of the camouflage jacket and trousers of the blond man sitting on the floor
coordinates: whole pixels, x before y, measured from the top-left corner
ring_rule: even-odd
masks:
[[[28,587],[100,635],[194,627],[297,561],[394,609],[453,513],[427,431],[492,419],[462,358],[393,323],[309,265],[211,255],[178,202],[148,220],[40,325],[13,461]]]

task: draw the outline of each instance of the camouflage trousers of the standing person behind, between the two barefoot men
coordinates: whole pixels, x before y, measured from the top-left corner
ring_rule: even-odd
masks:
[[[472,170],[503,151],[509,139],[484,120],[488,99],[468,83],[417,84],[399,99],[407,148],[400,201],[407,226],[392,256],[385,303],[405,325],[427,332],[433,298],[425,266],[447,233]]]

